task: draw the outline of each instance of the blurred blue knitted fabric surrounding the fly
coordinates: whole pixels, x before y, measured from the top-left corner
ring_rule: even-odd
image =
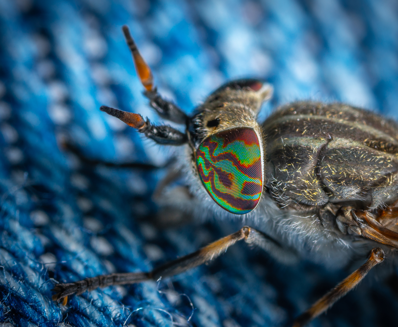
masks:
[[[241,225],[160,229],[150,223],[150,197],[163,169],[87,166],[60,146],[72,140],[87,157],[120,163],[161,166],[172,157],[174,149],[98,110],[161,123],[141,94],[123,24],[160,93],[186,112],[226,80],[248,76],[275,87],[260,119],[307,98],[398,118],[396,1],[0,0],[0,323],[291,324],[354,268],[285,267],[239,244],[159,285],[86,292],[66,307],[51,301],[54,280],[148,270]],[[396,271],[375,275],[312,326],[395,325]]]

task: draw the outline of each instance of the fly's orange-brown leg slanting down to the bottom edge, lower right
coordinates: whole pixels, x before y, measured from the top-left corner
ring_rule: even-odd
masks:
[[[365,264],[360,266],[351,275],[336,285],[335,288],[326,293],[322,298],[316,301],[310,309],[302,313],[295,322],[293,327],[300,327],[306,325],[312,319],[325,312],[337,300],[345,296],[366,276],[366,274],[379,262],[384,260],[384,252],[379,247],[373,249],[370,253],[369,259]]]

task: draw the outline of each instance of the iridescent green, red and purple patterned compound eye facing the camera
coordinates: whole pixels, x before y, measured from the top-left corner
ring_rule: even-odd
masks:
[[[254,129],[239,127],[207,137],[196,153],[202,183],[223,209],[243,215],[263,190],[260,144]]]

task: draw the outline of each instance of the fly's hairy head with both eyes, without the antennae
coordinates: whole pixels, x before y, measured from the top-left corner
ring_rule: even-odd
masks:
[[[263,137],[256,121],[272,87],[255,79],[234,80],[211,94],[188,124],[197,175],[224,210],[256,208],[264,182]]]

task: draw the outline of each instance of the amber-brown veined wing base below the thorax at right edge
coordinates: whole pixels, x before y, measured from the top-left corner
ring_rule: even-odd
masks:
[[[341,209],[343,214],[336,219],[340,230],[350,228],[362,237],[398,249],[398,234],[382,226],[369,212],[351,207]]]

